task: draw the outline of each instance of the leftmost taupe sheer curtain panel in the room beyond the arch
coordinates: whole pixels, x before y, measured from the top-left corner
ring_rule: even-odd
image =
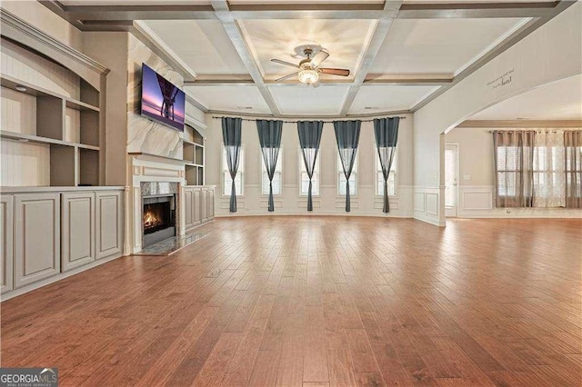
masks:
[[[493,131],[497,207],[534,205],[535,131]]]

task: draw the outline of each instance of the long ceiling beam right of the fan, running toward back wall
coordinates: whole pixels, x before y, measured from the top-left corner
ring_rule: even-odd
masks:
[[[342,104],[342,107],[339,111],[340,115],[346,115],[349,112],[349,108],[354,103],[356,95],[359,92],[362,84],[364,84],[370,67],[374,63],[376,55],[378,55],[378,52],[380,51],[380,47],[382,47],[384,44],[390,27],[392,27],[392,24],[394,23],[400,5],[402,5],[402,1],[385,2],[384,15],[378,20],[374,34],[367,44],[366,51],[363,55],[362,61],[360,62],[360,66],[356,69],[354,84],[352,84],[347,91],[344,104]]]

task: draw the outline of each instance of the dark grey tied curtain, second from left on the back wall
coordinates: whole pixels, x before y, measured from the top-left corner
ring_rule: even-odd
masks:
[[[275,176],[276,162],[281,148],[281,134],[283,121],[256,120],[258,141],[261,144],[261,152],[265,161],[266,174],[269,178],[269,212],[275,211],[273,200],[273,176]]]

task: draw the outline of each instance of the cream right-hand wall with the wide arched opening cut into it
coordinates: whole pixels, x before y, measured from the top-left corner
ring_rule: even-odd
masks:
[[[443,139],[439,134],[513,95],[582,73],[580,20],[582,4],[578,3],[414,114],[417,219],[445,224]],[[494,87],[491,82],[507,72],[511,72],[511,82]],[[437,196],[436,201],[431,198],[431,208],[426,207],[426,193]],[[432,206],[435,203],[437,208]]]

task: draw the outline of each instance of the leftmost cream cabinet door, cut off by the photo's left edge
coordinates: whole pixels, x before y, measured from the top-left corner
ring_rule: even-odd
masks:
[[[0,196],[0,293],[14,289],[14,198]]]

